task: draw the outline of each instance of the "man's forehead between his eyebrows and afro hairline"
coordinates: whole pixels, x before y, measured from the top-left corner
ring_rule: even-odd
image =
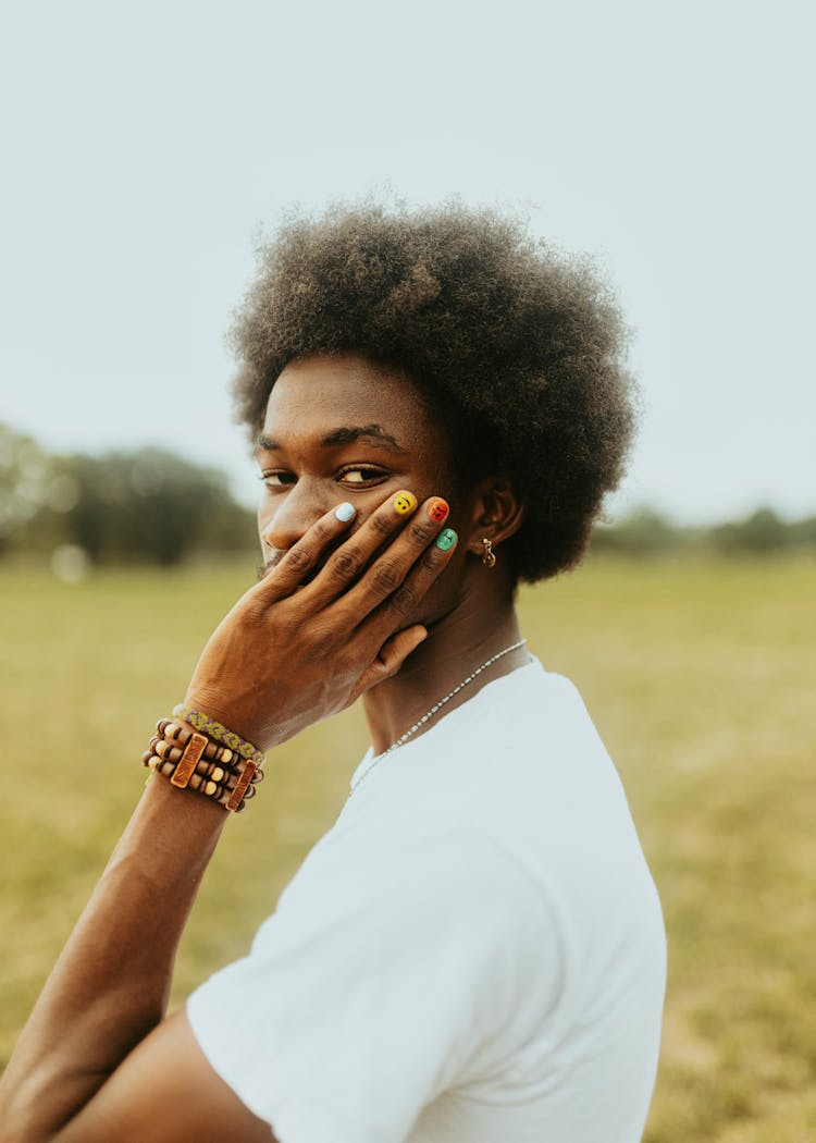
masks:
[[[270,393],[263,431],[274,439],[326,437],[339,427],[370,424],[403,447],[442,432],[409,378],[357,354],[289,362]]]

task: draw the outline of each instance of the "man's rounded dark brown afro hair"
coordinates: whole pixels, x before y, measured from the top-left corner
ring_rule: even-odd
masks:
[[[291,216],[258,250],[231,342],[253,437],[295,358],[355,352],[406,373],[443,410],[465,478],[506,477],[522,496],[505,545],[517,580],[577,563],[622,475],[633,382],[615,299],[586,257],[505,214],[366,203]]]

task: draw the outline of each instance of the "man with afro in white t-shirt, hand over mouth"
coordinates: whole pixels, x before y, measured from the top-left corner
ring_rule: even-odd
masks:
[[[159,776],[21,1038],[0,1137],[632,1143],[659,904],[514,610],[619,475],[616,311],[506,219],[365,208],[279,233],[235,339],[265,574],[151,740]],[[163,1020],[258,748],[359,696],[371,750],[336,825],[250,954]]]

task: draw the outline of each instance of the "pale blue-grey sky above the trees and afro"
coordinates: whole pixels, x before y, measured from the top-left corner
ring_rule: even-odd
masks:
[[[816,512],[814,17],[801,0],[72,0],[0,23],[0,421],[256,495],[229,313],[291,205],[525,211],[602,258],[643,418],[610,507]]]

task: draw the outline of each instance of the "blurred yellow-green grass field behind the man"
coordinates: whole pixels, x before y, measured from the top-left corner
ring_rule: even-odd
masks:
[[[624,778],[670,941],[648,1143],[816,1140],[816,563],[590,562],[521,600],[533,650],[581,687]],[[8,1057],[248,569],[0,573],[2,973]],[[241,954],[365,748],[358,712],[270,760],[230,824],[174,1002]]]

